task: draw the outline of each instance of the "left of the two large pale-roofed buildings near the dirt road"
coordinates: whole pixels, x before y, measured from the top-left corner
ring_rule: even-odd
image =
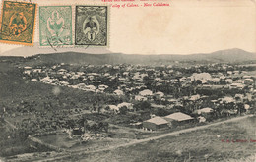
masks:
[[[144,121],[142,125],[144,129],[153,131],[168,128],[168,122],[158,116]]]

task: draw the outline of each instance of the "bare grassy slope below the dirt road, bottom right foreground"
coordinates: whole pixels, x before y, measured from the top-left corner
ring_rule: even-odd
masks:
[[[245,161],[256,153],[256,117],[62,161]],[[225,140],[225,142],[222,141]],[[226,142],[226,140],[248,142]]]

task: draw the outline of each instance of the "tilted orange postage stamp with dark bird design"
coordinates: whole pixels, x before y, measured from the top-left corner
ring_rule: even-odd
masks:
[[[3,1],[0,42],[31,45],[36,4]]]

